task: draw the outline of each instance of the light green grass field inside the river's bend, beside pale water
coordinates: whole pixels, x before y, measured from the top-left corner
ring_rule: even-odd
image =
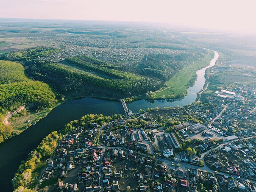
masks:
[[[197,70],[209,65],[213,53],[208,53],[202,61],[184,67],[170,81],[167,81],[164,87],[156,91],[156,99],[173,99],[186,95],[189,86],[192,86],[196,80]]]

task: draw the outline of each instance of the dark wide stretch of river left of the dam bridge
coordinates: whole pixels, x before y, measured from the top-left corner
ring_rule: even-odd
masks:
[[[85,114],[124,114],[119,100],[84,97],[69,100],[55,107],[49,114],[35,125],[22,131],[19,136],[0,143],[0,183],[2,191],[11,191],[11,179],[17,172],[21,161],[27,159],[30,153],[42,139],[51,131],[58,131],[68,122],[80,119]],[[6,190],[4,190],[6,189]]]

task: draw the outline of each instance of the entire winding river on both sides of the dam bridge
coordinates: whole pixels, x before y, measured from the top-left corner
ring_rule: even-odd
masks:
[[[167,106],[185,106],[194,102],[205,83],[205,70],[212,67],[219,54],[214,51],[214,58],[209,66],[197,71],[197,80],[194,86],[188,90],[188,95],[180,100],[156,100],[150,103],[147,100],[138,100],[128,103],[128,109],[138,112],[139,109]],[[51,131],[59,130],[71,120],[80,119],[85,114],[124,114],[122,104],[119,101],[105,100],[91,97],[84,97],[67,101],[54,108],[45,118],[22,132],[19,136],[13,137],[0,144],[0,189],[1,192],[12,191],[11,179],[14,178],[20,161],[25,160],[42,139]]]

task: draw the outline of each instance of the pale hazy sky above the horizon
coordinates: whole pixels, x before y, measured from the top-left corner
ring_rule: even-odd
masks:
[[[0,17],[181,23],[256,32],[255,0],[1,0]]]

